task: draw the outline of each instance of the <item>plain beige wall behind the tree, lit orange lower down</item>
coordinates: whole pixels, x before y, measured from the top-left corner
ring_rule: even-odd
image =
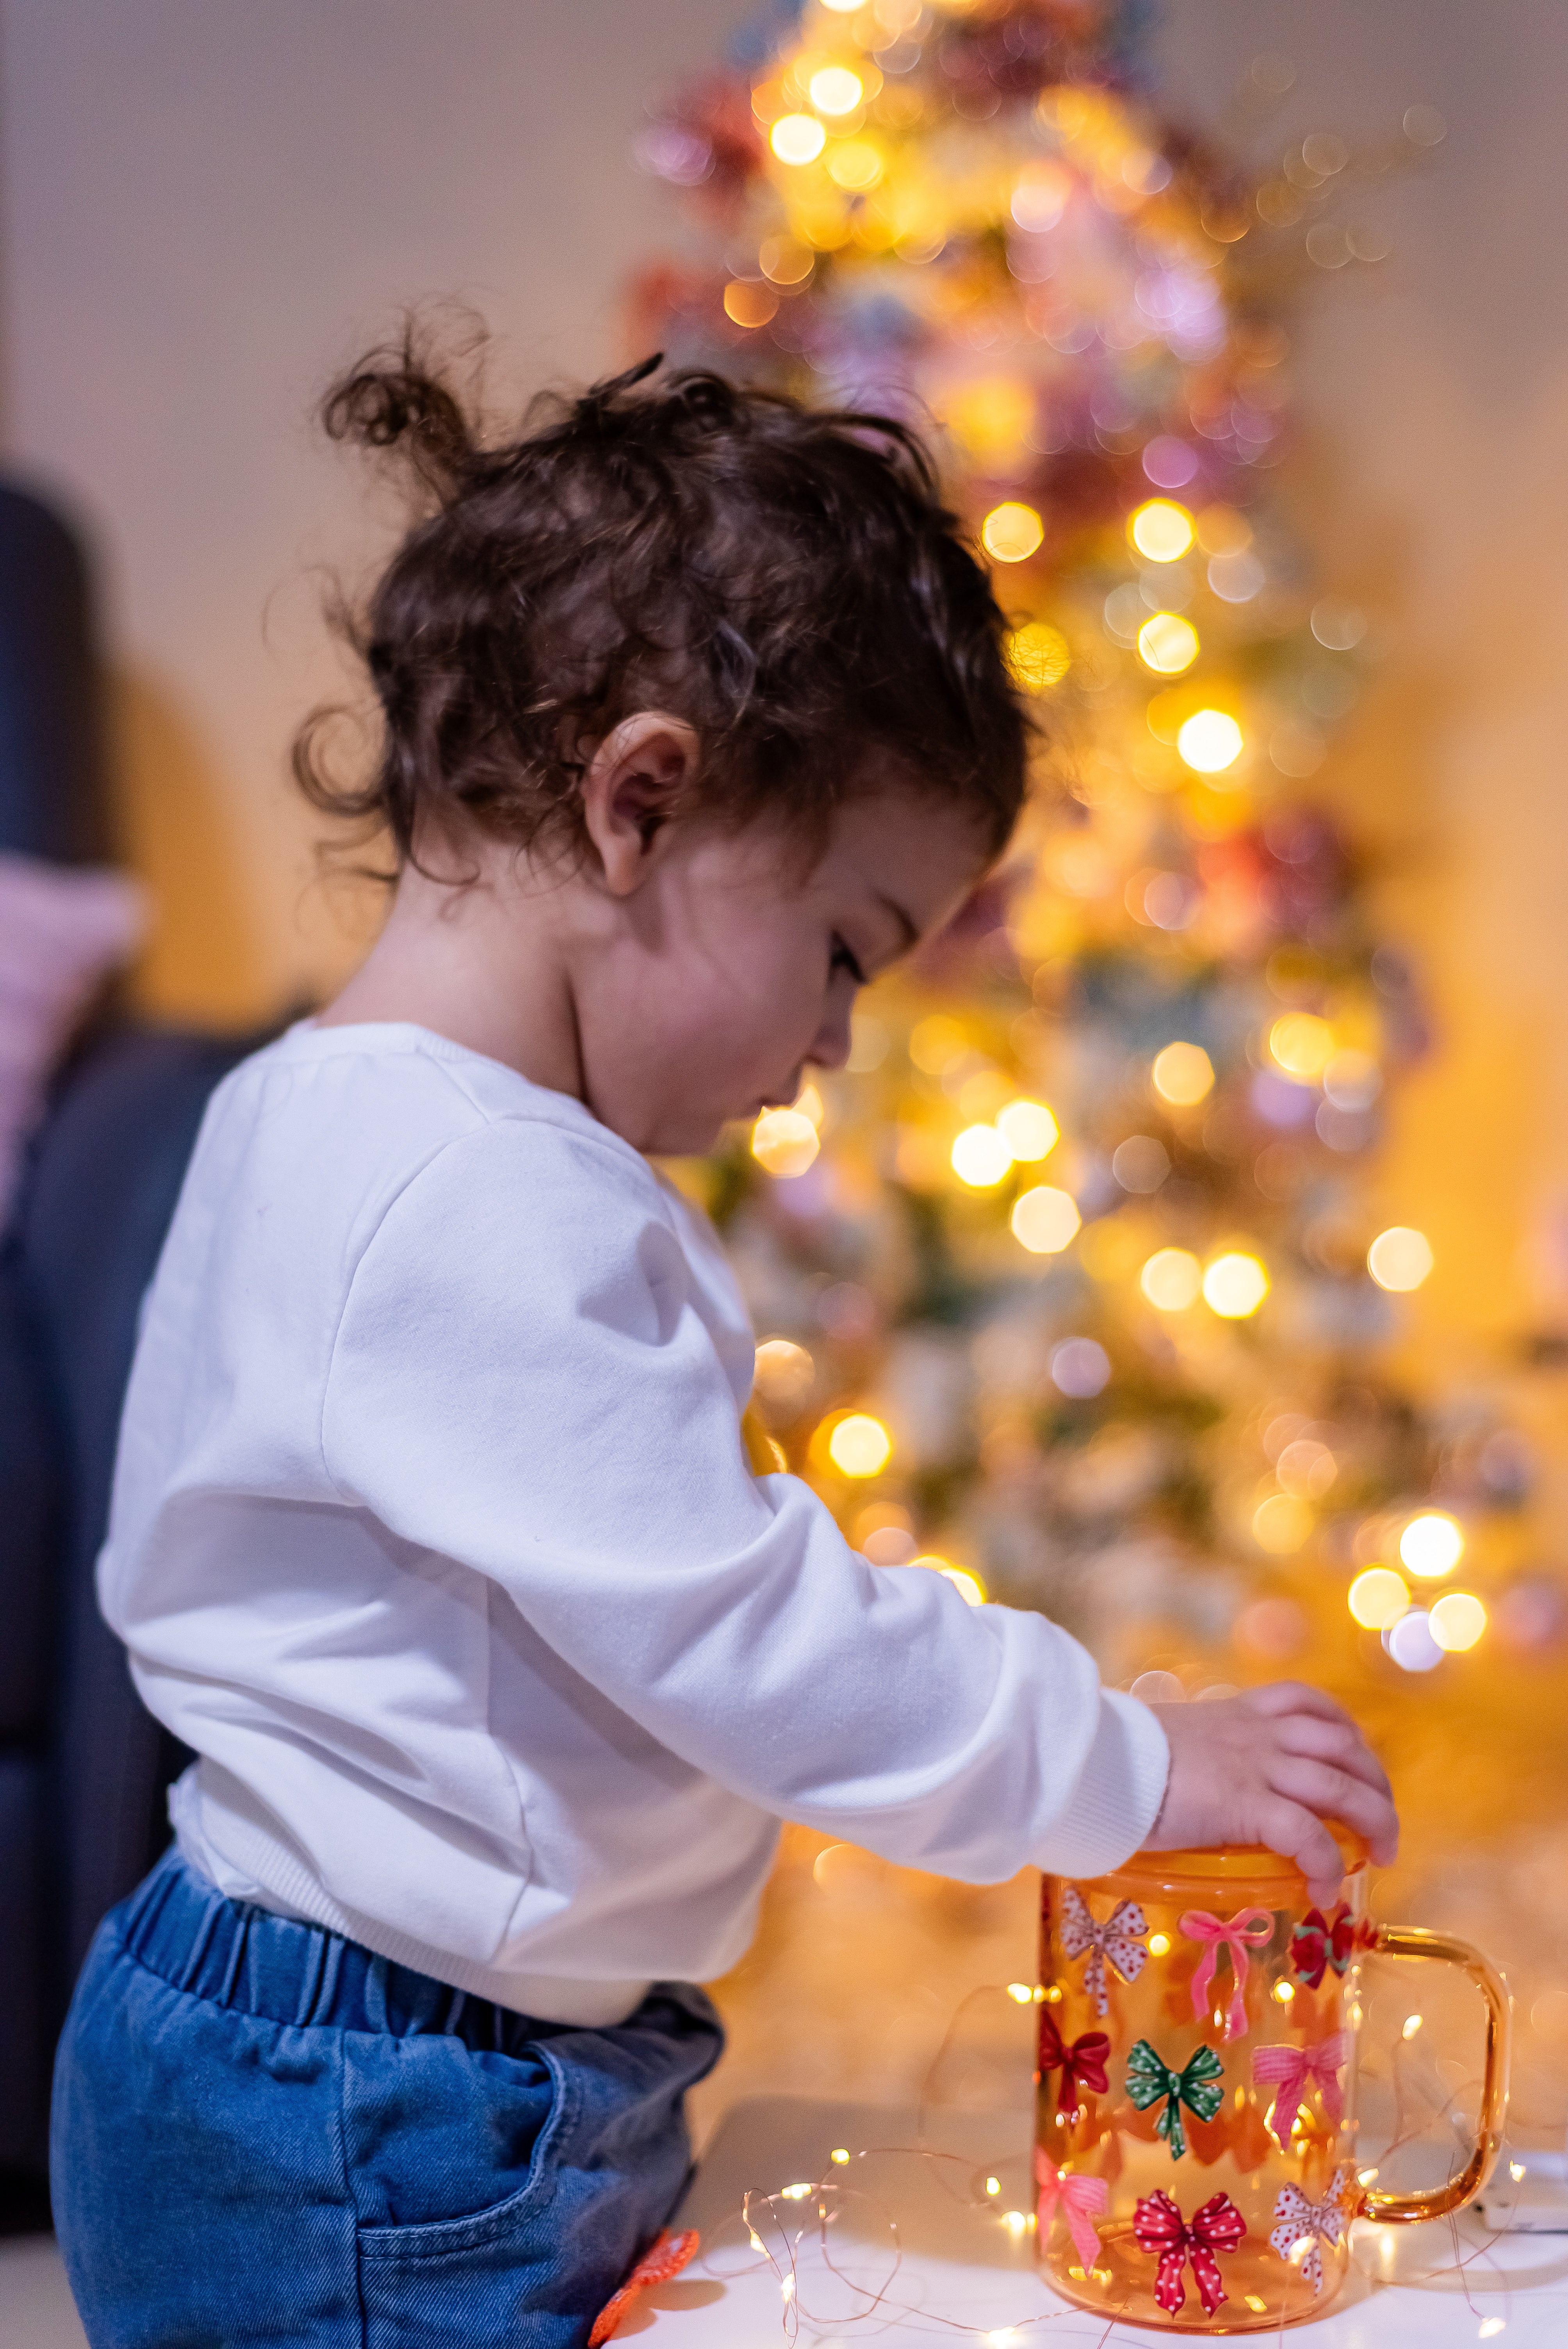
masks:
[[[617,357],[617,282],[664,233],[627,162],[643,92],[735,0],[9,0],[5,432],[106,576],[129,853],[162,900],[146,998],[235,1015],[317,984],[345,911],[284,782],[331,686],[319,571],[369,559],[352,467],[305,423],[408,298],[460,294],[519,378]],[[1453,129],[1366,204],[1394,258],[1314,289],[1310,526],[1383,613],[1338,789],[1399,848],[1441,1055],[1383,1196],[1439,1247],[1448,1374],[1495,1379],[1547,1301],[1521,1240],[1568,1198],[1568,256],[1561,0],[1174,0],[1169,85],[1214,117],[1258,49],[1298,85],[1270,143]],[[1559,1207],[1559,1214],[1568,1212]],[[1568,1287],[1568,1273],[1559,1273]],[[1568,1318],[1568,1297],[1559,1306]],[[1523,1407],[1552,1423],[1561,1381]]]

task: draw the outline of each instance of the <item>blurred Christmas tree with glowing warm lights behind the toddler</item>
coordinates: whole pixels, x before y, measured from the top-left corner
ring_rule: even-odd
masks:
[[[1110,1677],[1427,1670],[1561,1597],[1519,1438],[1383,1367],[1432,1252],[1364,1167],[1425,1038],[1310,785],[1366,618],[1277,482],[1296,280],[1380,258],[1354,197],[1441,122],[1258,171],[1160,115],[1145,35],[807,0],[641,139],[688,193],[638,352],[922,423],[1042,721],[1007,867],[702,1186],[768,1426],[871,1557]]]

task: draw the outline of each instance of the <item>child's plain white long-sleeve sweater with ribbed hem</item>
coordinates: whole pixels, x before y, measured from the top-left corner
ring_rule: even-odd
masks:
[[[972,1882],[1127,1858],[1155,1715],[753,1478],[749,1386],[714,1233],[577,1102],[418,1027],[244,1062],[99,1564],[200,1755],[185,1856],[568,2022],[730,1966],[784,1816]]]

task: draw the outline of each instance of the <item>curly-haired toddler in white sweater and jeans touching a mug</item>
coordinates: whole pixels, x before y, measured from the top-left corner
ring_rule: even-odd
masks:
[[[415,512],[376,773],[296,766],[394,893],[214,1095],[127,1395],[101,1600],[197,1759],[59,2055],[94,2349],[582,2349],[779,1818],[981,1884],[1392,1858],[1329,1698],[1106,1691],[746,1463],[751,1330],[650,1158],[843,1064],[1026,726],[904,428],[653,364],[509,439],[408,348],[326,404]]]

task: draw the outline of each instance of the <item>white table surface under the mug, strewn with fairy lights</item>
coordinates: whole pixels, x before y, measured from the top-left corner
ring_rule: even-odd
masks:
[[[1028,2192],[1030,2128],[1026,2112],[927,2116],[927,2145],[960,2159],[922,2161],[918,2116],[866,2105],[807,2098],[756,2098],[737,2105],[714,2131],[676,2225],[702,2229],[702,2253],[674,2283],[646,2293],[627,2311],[617,2342],[638,2349],[807,2349],[822,2342],[920,2342],[930,2349],[988,2349],[986,2333],[1014,2333],[995,2349],[1150,2349],[1169,2328],[1113,2323],[1068,2307],[1035,2274],[1028,2236],[1009,2236],[995,2208],[974,2210],[969,2166],[995,2170],[1000,2210],[1033,2208]],[[831,2149],[892,2147],[894,2152],[831,2163]],[[807,2229],[796,2276],[798,2326],[786,2326],[779,2269],[746,2243],[739,2220],[746,2189],[817,2178],[857,2187],[836,2227],[833,2262],[840,2281],[812,2253],[812,2203],[775,2203]],[[798,2220],[793,2213],[800,2213]],[[885,2213],[897,2215],[899,2262]],[[763,2236],[784,2253],[777,2220],[761,2220]],[[1568,2349],[1568,2234],[1495,2234],[1474,2213],[1425,2227],[1357,2227],[1357,2267],[1333,2309],[1291,2335],[1314,2349],[1458,2349],[1460,2342],[1500,2340],[1500,2349]],[[859,2288],[857,2288],[859,2286]],[[873,2309],[871,2300],[883,2288]],[[1190,2340],[1192,2335],[1178,2335]],[[1253,2335],[1261,2342],[1282,2335]]]

